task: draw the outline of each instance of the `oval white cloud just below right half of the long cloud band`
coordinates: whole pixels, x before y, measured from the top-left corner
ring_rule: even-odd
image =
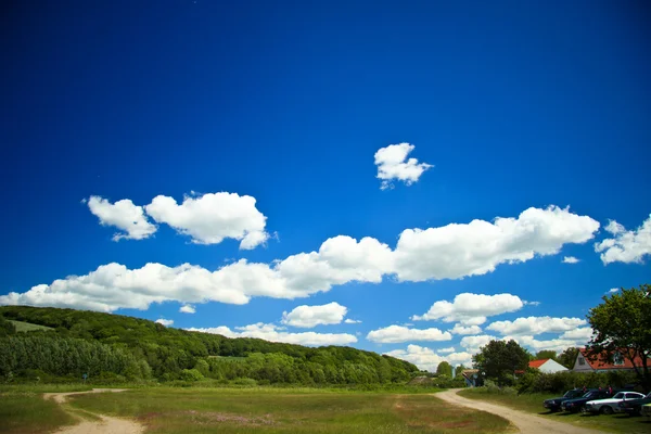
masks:
[[[414,315],[411,319],[414,321],[459,321],[463,326],[478,326],[486,322],[486,317],[515,311],[521,309],[523,305],[522,299],[512,294],[462,293],[457,295],[452,303],[447,301],[436,302],[425,314]]]

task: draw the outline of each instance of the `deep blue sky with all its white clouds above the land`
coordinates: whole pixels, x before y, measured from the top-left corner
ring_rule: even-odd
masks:
[[[482,336],[585,341],[563,333],[651,278],[648,18],[642,1],[16,3],[0,303],[426,368]]]

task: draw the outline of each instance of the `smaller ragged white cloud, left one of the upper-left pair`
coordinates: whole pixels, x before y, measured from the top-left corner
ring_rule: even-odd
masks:
[[[90,196],[84,203],[100,219],[102,226],[114,226],[123,231],[115,233],[113,241],[143,240],[156,232],[157,228],[148,221],[142,206],[133,205],[128,199],[112,204],[100,196]]]

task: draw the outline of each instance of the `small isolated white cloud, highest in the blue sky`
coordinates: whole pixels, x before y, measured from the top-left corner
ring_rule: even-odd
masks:
[[[409,143],[390,144],[375,152],[378,178],[382,180],[380,187],[382,190],[393,188],[392,180],[399,180],[411,186],[425,170],[433,167],[426,163],[419,163],[417,158],[407,159],[407,155],[414,148]]]

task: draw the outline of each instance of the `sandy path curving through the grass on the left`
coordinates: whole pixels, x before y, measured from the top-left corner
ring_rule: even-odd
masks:
[[[88,393],[104,393],[104,392],[124,392],[125,388],[93,388],[88,392],[67,392],[67,393],[47,393],[43,394],[44,399],[53,399],[59,404],[65,404],[71,395],[81,395]],[[89,411],[87,411],[89,412]],[[100,421],[91,421],[79,418],[77,414],[71,413],[75,419],[80,420],[80,423],[73,426],[65,426],[56,431],[56,434],[140,434],[144,432],[144,426],[140,423],[127,419],[111,418],[104,414],[94,414],[100,418]]]

